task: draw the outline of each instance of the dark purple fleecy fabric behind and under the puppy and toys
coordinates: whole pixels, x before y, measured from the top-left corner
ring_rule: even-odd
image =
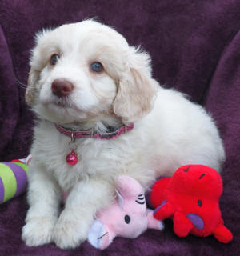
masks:
[[[32,140],[33,115],[25,104],[30,48],[42,27],[86,17],[114,26],[153,58],[154,78],[189,94],[212,114],[226,146],[220,201],[234,241],[178,238],[166,221],[163,232],[115,238],[109,249],[84,243],[76,250],[54,244],[30,248],[21,241],[26,194],[0,206],[0,255],[239,255],[240,254],[240,1],[30,1],[0,3],[0,161],[23,158]]]

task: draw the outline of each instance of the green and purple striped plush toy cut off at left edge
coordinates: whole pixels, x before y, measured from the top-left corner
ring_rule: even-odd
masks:
[[[18,197],[26,190],[30,158],[29,155],[24,159],[0,162],[0,204]]]

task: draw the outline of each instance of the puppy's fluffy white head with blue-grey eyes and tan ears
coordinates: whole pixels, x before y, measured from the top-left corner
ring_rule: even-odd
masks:
[[[88,20],[36,36],[26,102],[42,118],[127,124],[150,111],[155,93],[150,56],[108,26]]]

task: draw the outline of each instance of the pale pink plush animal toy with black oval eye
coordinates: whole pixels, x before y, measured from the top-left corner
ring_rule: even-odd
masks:
[[[162,230],[163,223],[146,208],[142,186],[126,175],[119,176],[116,189],[118,200],[102,212],[90,227],[88,242],[98,249],[105,249],[116,236],[137,238],[147,228]]]

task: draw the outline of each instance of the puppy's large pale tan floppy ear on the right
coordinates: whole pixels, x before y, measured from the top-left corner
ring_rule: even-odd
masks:
[[[153,106],[156,84],[151,78],[150,55],[130,47],[127,70],[117,81],[114,114],[121,117],[123,123],[142,118]]]

